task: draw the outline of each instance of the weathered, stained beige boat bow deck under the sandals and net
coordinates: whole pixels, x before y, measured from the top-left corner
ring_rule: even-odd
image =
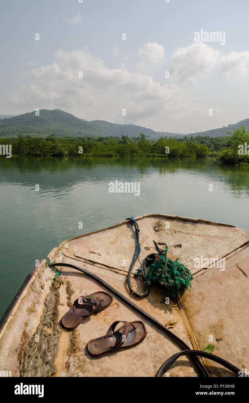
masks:
[[[168,257],[179,258],[193,274],[192,288],[183,295],[184,314],[202,350],[214,344],[214,354],[243,370],[249,368],[248,328],[249,233],[208,220],[147,214],[136,218],[140,228],[140,262],[155,251],[153,239],[169,246]],[[157,225],[158,231],[154,231]],[[127,221],[101,231],[64,241],[49,253],[50,263],[71,263],[97,274],[162,324],[177,321],[171,331],[193,348],[183,313],[175,301],[162,303],[163,287],[151,287],[138,299],[130,294],[126,275],[136,245],[134,227]],[[225,258],[225,270],[194,267],[194,259]],[[135,269],[140,267],[137,262]],[[61,269],[61,268],[59,268]],[[135,272],[134,269],[134,272]],[[0,332],[0,370],[12,376],[154,376],[161,364],[181,350],[171,337],[156,328],[121,299],[99,314],[86,318],[73,331],[60,326],[60,318],[80,295],[103,289],[89,276],[62,268],[58,278],[41,260]],[[52,283],[54,284],[52,285]],[[140,278],[134,288],[144,291]],[[91,357],[86,345],[105,334],[115,320],[143,320],[147,336],[140,345],[103,357]],[[233,376],[218,364],[205,360],[213,376]],[[192,359],[182,357],[169,376],[198,376]]]

